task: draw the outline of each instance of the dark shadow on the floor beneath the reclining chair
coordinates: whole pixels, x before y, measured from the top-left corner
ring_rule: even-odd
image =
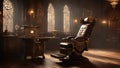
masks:
[[[56,62],[59,66],[68,68],[68,67],[77,67],[77,68],[97,68],[92,64],[88,58],[83,57],[80,59],[67,60],[65,62]]]

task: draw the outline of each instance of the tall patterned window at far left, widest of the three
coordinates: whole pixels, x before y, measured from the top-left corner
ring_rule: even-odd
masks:
[[[13,32],[13,5],[10,0],[3,1],[3,32]]]

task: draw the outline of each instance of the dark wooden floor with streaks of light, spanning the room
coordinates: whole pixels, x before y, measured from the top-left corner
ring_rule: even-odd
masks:
[[[90,49],[84,52],[86,59],[74,62],[62,63],[58,59],[45,53],[45,60],[2,60],[0,68],[120,68],[120,52]]]

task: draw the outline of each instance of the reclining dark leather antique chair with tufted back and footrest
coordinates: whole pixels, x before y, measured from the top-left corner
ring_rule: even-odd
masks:
[[[76,37],[68,36],[64,38],[63,42],[59,44],[60,52],[51,54],[51,56],[61,61],[81,59],[83,57],[82,53],[88,50],[88,41],[95,23],[95,19],[92,17],[84,18]]]

